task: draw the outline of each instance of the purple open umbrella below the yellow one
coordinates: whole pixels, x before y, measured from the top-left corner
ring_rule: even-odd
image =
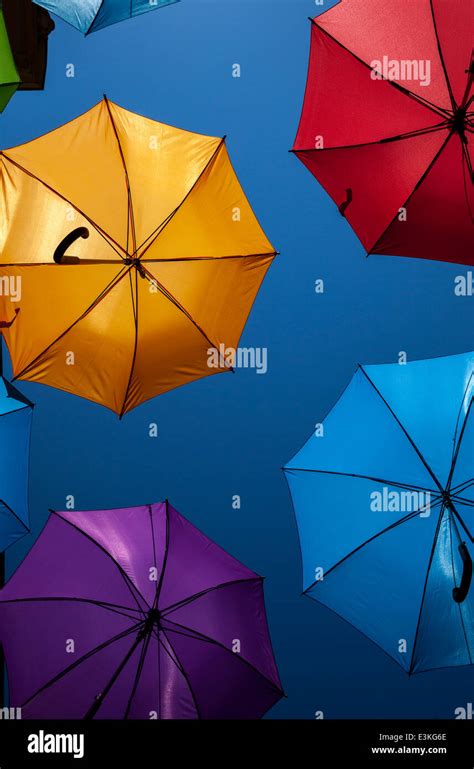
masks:
[[[259,718],[282,696],[262,578],[168,502],[53,513],[0,636],[23,718]]]

